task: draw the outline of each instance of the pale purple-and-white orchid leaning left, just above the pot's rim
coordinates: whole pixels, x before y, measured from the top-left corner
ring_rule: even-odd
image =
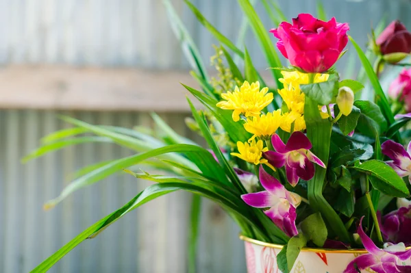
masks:
[[[266,216],[269,216],[282,231],[292,237],[298,234],[295,219],[297,213],[295,208],[301,203],[301,197],[293,192],[288,192],[282,183],[271,177],[262,166],[259,170],[260,182],[265,191],[241,196],[247,205],[264,209]]]

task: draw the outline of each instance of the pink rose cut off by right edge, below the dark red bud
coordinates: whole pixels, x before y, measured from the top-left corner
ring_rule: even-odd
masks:
[[[411,68],[404,68],[399,73],[397,79],[390,84],[388,94],[395,100],[404,101],[406,111],[411,112]]]

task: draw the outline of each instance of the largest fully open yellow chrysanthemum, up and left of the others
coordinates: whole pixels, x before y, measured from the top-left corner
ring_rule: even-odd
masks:
[[[236,86],[234,92],[221,94],[221,97],[226,101],[217,103],[217,107],[221,109],[234,110],[233,120],[240,120],[240,114],[244,116],[260,116],[261,110],[273,101],[273,94],[269,93],[269,88],[260,90],[260,83],[256,81],[251,83],[248,81],[242,83],[240,89]]]

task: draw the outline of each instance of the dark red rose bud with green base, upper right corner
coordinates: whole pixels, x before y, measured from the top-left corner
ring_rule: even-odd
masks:
[[[375,44],[386,62],[396,64],[411,53],[411,34],[400,21],[393,21],[379,34]]]

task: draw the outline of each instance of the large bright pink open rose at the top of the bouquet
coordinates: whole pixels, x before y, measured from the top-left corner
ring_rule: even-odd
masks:
[[[347,45],[348,30],[348,24],[337,23],[336,18],[324,22],[311,14],[299,14],[292,25],[282,22],[270,32],[279,39],[277,47],[292,66],[307,73],[323,73]]]

